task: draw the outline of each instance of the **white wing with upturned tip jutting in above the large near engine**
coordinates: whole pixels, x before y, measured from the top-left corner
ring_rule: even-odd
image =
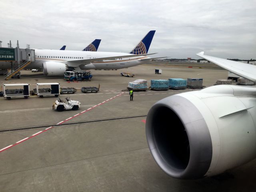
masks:
[[[222,68],[224,68],[238,76],[241,76],[245,79],[256,82],[256,66],[254,66],[254,65],[204,55],[204,52],[200,52],[196,55],[200,56],[218,66],[221,66]]]

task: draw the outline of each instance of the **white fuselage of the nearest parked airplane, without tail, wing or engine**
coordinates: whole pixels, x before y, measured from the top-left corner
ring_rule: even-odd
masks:
[[[44,50],[35,49],[35,61],[26,67],[26,69],[39,69],[42,68],[44,62],[54,61],[63,62],[68,60],[82,60],[93,58],[104,58],[113,56],[133,55],[128,53],[118,52],[91,52],[91,51],[68,51],[68,50]],[[138,56],[131,58],[118,58],[113,60],[104,60],[100,62],[81,62],[81,70],[89,69],[121,69],[140,65],[149,60],[142,61],[141,59],[148,58],[146,56]],[[0,62],[0,69],[10,69],[10,62]]]

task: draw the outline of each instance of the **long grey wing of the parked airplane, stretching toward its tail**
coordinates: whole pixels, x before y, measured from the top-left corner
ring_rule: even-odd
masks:
[[[113,60],[113,59],[118,59],[118,58],[130,58],[130,57],[139,57],[139,56],[148,56],[156,53],[151,53],[151,54],[140,54],[140,55],[123,55],[123,56],[113,56],[113,57],[102,57],[102,58],[90,58],[90,59],[77,59],[77,60],[66,60],[63,62],[69,62],[68,66],[70,67],[77,67],[80,66],[81,64],[89,64],[91,62],[101,62],[103,60]]]

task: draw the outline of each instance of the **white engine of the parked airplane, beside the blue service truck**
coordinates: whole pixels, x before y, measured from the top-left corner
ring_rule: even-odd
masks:
[[[67,69],[66,64],[62,62],[55,62],[55,61],[43,62],[44,75],[47,75],[47,76],[64,75],[64,72],[66,71],[66,69]]]

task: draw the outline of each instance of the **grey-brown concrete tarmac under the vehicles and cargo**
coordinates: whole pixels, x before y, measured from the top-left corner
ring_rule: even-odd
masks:
[[[78,100],[78,111],[52,110],[53,96],[28,99],[0,98],[0,192],[96,192],[96,191],[255,191],[256,161],[224,174],[200,180],[178,180],[156,164],[145,135],[146,114],[158,100],[186,90],[134,92],[128,82],[168,78],[203,78],[212,86],[226,79],[226,70],[140,65],[123,70],[92,70],[90,82],[68,83],[62,77],[38,77],[22,71],[20,79],[0,83],[59,82],[61,87],[81,88],[100,84],[98,93],[60,95]],[[122,77],[120,72],[135,74]],[[64,122],[62,122],[64,121]],[[56,125],[60,123],[59,126]],[[172,122],[170,122],[171,124]]]

